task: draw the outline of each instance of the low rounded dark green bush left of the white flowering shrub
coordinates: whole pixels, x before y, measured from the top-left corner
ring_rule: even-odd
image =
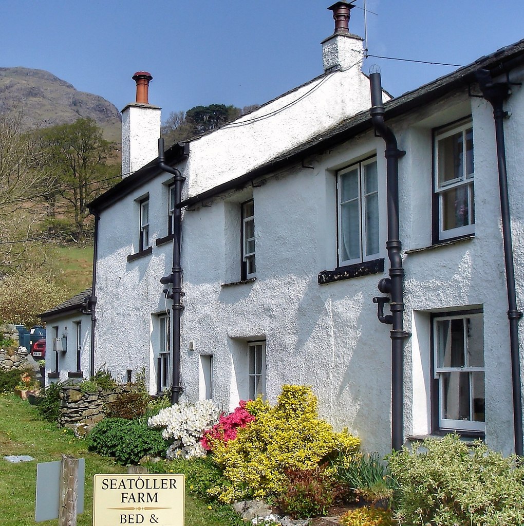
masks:
[[[114,457],[123,464],[137,464],[146,455],[162,457],[167,443],[162,433],[146,423],[124,418],[104,418],[87,436],[89,451]]]

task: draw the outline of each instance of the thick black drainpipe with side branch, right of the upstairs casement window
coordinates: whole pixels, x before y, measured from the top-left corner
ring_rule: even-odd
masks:
[[[397,147],[397,139],[384,123],[380,73],[371,73],[371,122],[376,133],[386,143],[386,178],[388,240],[386,249],[390,261],[389,278],[379,281],[378,289],[389,298],[373,298],[378,303],[378,317],[382,323],[392,325],[391,337],[391,448],[399,450],[404,444],[404,340],[411,334],[404,330],[404,268],[402,268],[398,219],[398,159],[406,154]],[[384,316],[384,303],[389,302],[391,316]]]

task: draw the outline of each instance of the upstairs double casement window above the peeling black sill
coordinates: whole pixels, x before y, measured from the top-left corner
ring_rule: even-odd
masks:
[[[338,264],[351,265],[379,257],[377,158],[337,174]]]

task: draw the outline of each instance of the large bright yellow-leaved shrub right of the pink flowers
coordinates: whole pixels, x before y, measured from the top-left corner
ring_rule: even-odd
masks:
[[[213,444],[213,458],[230,481],[208,491],[220,501],[278,495],[286,490],[286,469],[312,470],[322,460],[358,451],[358,438],[318,418],[308,386],[283,386],[274,407],[259,397],[246,409],[255,420],[239,428],[235,440]]]

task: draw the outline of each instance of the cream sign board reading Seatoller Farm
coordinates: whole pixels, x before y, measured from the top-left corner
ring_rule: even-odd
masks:
[[[184,507],[184,475],[95,475],[93,526],[184,526]]]

